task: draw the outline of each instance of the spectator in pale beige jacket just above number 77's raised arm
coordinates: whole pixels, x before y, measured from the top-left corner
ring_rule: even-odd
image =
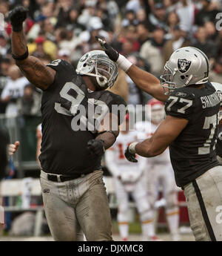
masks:
[[[150,72],[155,76],[160,76],[164,67],[162,50],[165,42],[163,28],[157,27],[152,33],[152,38],[141,46],[140,55],[147,59],[150,64]]]

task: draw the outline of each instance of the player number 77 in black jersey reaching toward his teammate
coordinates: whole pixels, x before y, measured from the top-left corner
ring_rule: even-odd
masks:
[[[155,157],[169,146],[175,181],[184,189],[195,239],[222,240],[222,167],[215,151],[221,100],[208,80],[206,55],[195,47],[176,50],[160,81],[132,65],[104,39],[98,42],[139,88],[166,102],[166,119],[155,134],[144,142],[132,142],[125,157],[135,162],[135,153]]]

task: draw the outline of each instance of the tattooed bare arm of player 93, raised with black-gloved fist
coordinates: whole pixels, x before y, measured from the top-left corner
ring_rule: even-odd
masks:
[[[41,60],[29,56],[27,42],[22,30],[22,24],[27,18],[27,9],[16,7],[10,12],[10,22],[13,27],[11,35],[13,59],[24,76],[36,87],[46,90],[53,84],[55,70],[44,65]]]

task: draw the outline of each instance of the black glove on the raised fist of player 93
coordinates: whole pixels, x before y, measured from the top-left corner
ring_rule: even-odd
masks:
[[[13,26],[14,32],[19,32],[22,30],[22,23],[27,18],[28,10],[23,6],[18,6],[11,10],[9,13],[9,19]]]

